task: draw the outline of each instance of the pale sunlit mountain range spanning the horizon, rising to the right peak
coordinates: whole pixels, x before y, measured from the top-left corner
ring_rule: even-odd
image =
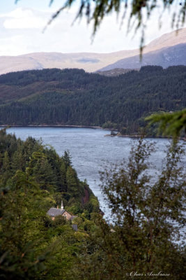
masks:
[[[173,45],[186,43],[186,28],[164,34],[155,39],[144,48],[144,55],[148,52],[162,50]],[[79,68],[85,71],[98,71],[105,66],[114,64],[127,57],[139,57],[139,49],[121,50],[111,53],[61,53],[61,52],[35,52],[18,56],[0,57],[0,74],[14,71],[46,69],[46,68]],[[114,66],[114,68],[116,68]],[[131,67],[129,67],[131,68]],[[137,68],[137,67],[134,67]]]

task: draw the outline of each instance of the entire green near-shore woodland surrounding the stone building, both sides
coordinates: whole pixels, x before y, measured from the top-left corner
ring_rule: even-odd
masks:
[[[77,178],[68,151],[59,157],[40,141],[1,130],[0,278],[141,280],[160,273],[158,279],[185,279],[183,147],[173,141],[151,181],[153,149],[140,139],[127,163],[100,174],[114,214],[109,224],[86,181]],[[46,214],[61,198],[77,215],[77,232],[63,217],[52,221]]]

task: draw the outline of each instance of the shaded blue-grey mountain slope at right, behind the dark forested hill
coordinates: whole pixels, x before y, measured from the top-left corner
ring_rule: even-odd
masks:
[[[109,71],[111,69],[140,69],[141,66],[159,65],[164,68],[174,65],[186,65],[186,43],[173,45],[169,48],[162,48],[153,52],[148,52],[140,59],[139,55],[120,59],[110,64],[100,71]]]

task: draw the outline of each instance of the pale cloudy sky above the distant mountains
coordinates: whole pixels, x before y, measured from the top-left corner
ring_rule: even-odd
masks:
[[[79,0],[77,0],[79,1]],[[2,3],[1,3],[2,2]],[[86,19],[77,20],[75,3],[70,10],[63,11],[45,32],[42,30],[60,8],[63,0],[15,0],[0,1],[0,55],[23,55],[31,52],[116,52],[139,48],[141,32],[127,34],[127,21],[121,26],[121,17],[116,14],[104,19],[95,37],[93,26]],[[172,31],[171,12],[164,13],[162,28],[159,29],[160,10],[155,10],[148,20],[146,41],[150,43],[162,34]]]

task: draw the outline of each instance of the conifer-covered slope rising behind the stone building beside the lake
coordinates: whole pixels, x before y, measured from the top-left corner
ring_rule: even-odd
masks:
[[[65,209],[73,214],[83,213],[85,209],[90,213],[93,209],[100,211],[87,183],[79,181],[68,151],[59,157],[51,146],[43,146],[31,137],[26,141],[16,139],[15,135],[6,134],[6,130],[0,130],[0,140],[1,185],[29,180],[31,186],[37,185],[44,193],[51,193],[48,207],[60,205],[63,200]]]

